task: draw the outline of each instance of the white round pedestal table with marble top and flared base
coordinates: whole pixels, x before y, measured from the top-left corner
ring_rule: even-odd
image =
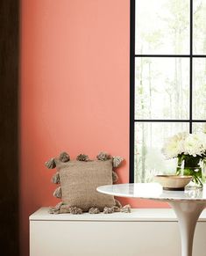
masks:
[[[181,230],[181,256],[192,256],[196,222],[206,207],[206,187],[184,191],[163,190],[158,183],[130,183],[97,187],[98,192],[120,197],[167,201],[174,208]]]

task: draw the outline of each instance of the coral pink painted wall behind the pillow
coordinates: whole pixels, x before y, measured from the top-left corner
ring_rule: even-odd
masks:
[[[48,158],[62,150],[71,157],[107,150],[125,157],[119,176],[128,182],[130,1],[21,2],[20,238],[26,256],[28,216],[57,202]]]

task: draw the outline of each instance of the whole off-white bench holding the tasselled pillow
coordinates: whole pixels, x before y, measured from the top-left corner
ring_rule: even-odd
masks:
[[[206,210],[195,230],[193,256],[206,256]],[[30,256],[181,256],[173,209],[139,208],[131,214],[30,216]]]

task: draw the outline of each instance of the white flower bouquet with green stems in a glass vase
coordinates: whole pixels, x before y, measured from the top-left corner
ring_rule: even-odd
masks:
[[[177,157],[177,174],[192,175],[202,187],[202,165],[206,159],[206,134],[179,133],[169,137],[162,149],[167,159]]]

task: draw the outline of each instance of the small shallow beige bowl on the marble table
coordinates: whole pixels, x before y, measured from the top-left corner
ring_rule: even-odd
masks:
[[[188,175],[160,174],[154,176],[154,181],[160,183],[165,190],[184,190],[192,178]]]

